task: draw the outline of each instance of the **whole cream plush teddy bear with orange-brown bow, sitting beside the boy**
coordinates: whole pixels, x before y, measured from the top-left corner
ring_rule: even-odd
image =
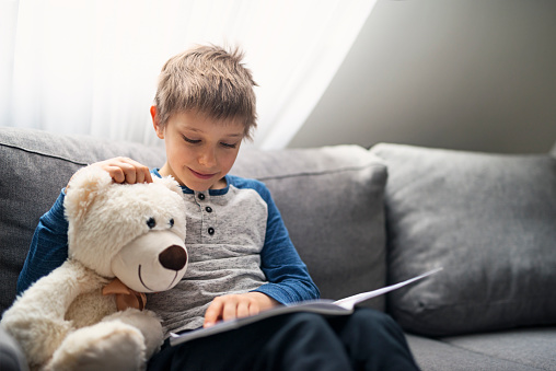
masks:
[[[68,259],[24,291],[1,325],[33,370],[141,370],[163,341],[146,293],[187,269],[183,193],[171,177],[117,184],[78,171],[63,200]]]

